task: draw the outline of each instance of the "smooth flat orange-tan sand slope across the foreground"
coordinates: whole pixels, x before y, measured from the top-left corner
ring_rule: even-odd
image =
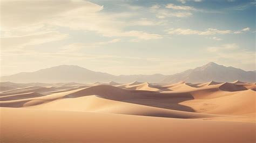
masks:
[[[1,142],[255,141],[255,124],[247,122],[21,108],[1,114]]]

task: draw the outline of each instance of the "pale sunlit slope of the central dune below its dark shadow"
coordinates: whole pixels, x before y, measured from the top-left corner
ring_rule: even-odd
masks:
[[[221,117],[220,115],[214,114],[184,112],[139,104],[131,104],[122,101],[104,99],[100,96],[85,96],[78,98],[58,99],[55,101],[51,101],[49,103],[31,106],[29,108],[41,108],[48,110],[64,111],[90,111],[183,119]]]

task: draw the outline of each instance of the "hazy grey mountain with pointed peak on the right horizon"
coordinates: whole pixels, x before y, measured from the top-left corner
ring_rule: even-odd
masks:
[[[188,83],[204,83],[207,81],[231,82],[234,80],[255,82],[256,73],[244,71],[232,66],[223,66],[216,63],[208,63],[193,70],[186,70],[171,76],[167,76],[163,83],[177,83],[186,81]]]

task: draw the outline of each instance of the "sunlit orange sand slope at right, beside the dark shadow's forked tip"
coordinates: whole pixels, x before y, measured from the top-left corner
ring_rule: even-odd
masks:
[[[200,113],[225,115],[251,114],[254,117],[256,111],[255,91],[253,90],[235,92],[211,99],[187,100],[180,104],[193,107],[196,112]]]

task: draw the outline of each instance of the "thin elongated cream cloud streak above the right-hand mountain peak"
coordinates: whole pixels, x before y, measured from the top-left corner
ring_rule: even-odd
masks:
[[[245,28],[242,31],[248,31],[250,28]],[[232,31],[232,30],[218,30],[209,28],[205,31],[199,30],[192,30],[192,29],[169,29],[167,30],[169,34],[176,34],[176,35],[224,35],[230,33],[242,33],[241,31]]]

